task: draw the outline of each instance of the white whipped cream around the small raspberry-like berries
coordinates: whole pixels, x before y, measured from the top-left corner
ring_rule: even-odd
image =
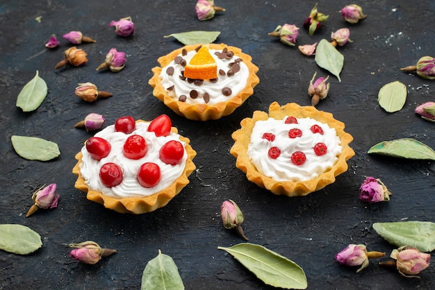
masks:
[[[331,169],[343,150],[335,128],[311,118],[297,119],[297,123],[290,124],[284,123],[285,120],[286,118],[269,118],[267,121],[256,121],[247,154],[258,172],[276,181],[304,181],[317,178],[321,173]],[[320,126],[324,134],[312,133],[310,128],[313,125]],[[288,137],[291,128],[302,130],[302,137]],[[264,133],[274,134],[274,141],[263,139]],[[314,153],[313,147],[319,142],[327,146],[325,155],[318,156]],[[277,159],[272,159],[268,155],[269,149],[273,146],[281,150],[281,155]],[[304,164],[293,164],[291,155],[295,151],[305,153]]]

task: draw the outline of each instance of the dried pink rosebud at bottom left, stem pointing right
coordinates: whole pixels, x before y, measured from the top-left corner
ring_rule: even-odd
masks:
[[[91,265],[97,264],[101,257],[107,257],[117,253],[117,250],[101,248],[99,244],[95,243],[95,241],[83,241],[83,243],[79,244],[69,244],[69,247],[75,248],[69,252],[70,257]]]

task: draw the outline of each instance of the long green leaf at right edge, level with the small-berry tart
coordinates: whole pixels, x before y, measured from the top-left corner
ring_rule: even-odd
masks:
[[[435,151],[432,148],[411,138],[378,143],[372,146],[367,153],[407,159],[435,160]]]

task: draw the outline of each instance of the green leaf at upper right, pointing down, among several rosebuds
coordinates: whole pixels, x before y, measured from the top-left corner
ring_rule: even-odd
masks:
[[[345,57],[327,40],[320,40],[315,48],[315,62],[322,69],[334,74],[341,82],[340,72],[343,69]]]

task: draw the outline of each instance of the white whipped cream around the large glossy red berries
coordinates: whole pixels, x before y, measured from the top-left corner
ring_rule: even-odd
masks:
[[[183,158],[179,164],[171,165],[166,164],[160,160],[159,151],[161,146],[170,140],[177,140],[186,146],[185,142],[180,140],[180,135],[176,133],[170,133],[165,137],[156,137],[154,132],[148,132],[147,128],[149,123],[138,122],[136,123],[136,130],[130,134],[122,132],[115,132],[115,125],[108,126],[101,130],[95,137],[101,137],[110,142],[112,146],[108,156],[102,158],[100,161],[92,159],[86,146],[83,146],[81,153],[83,159],[80,164],[81,176],[85,179],[85,183],[95,191],[101,191],[106,196],[112,196],[114,198],[125,197],[141,197],[155,194],[166,187],[169,187],[174,180],[181,176],[184,167],[186,167],[187,153],[184,151]],[[124,156],[122,148],[125,140],[131,135],[141,135],[145,138],[148,146],[147,154],[139,160],[132,160]],[[106,187],[101,183],[99,178],[99,170],[101,166],[107,162],[114,162],[122,168],[123,180],[120,185],[115,187]],[[142,187],[137,179],[138,169],[145,162],[154,162],[158,164],[161,169],[161,180],[158,184],[151,188]]]

